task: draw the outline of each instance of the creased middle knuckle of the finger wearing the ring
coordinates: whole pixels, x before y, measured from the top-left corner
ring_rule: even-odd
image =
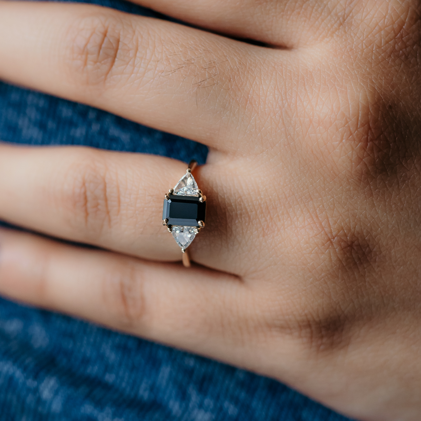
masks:
[[[84,236],[99,236],[118,216],[118,184],[99,157],[76,159],[67,169],[61,192],[69,226]]]

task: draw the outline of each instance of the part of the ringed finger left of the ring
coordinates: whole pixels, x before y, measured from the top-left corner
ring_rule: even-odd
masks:
[[[162,207],[186,168],[141,154],[0,145],[0,218],[67,240],[178,261],[181,250],[162,224]]]

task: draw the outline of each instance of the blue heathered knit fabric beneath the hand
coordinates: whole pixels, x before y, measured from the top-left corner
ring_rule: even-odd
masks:
[[[155,13],[122,1],[98,1]],[[204,163],[203,145],[0,83],[0,139]],[[346,421],[276,381],[0,298],[0,421]]]

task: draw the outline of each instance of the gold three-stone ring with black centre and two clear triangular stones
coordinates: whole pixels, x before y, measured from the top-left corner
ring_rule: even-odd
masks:
[[[197,187],[192,171],[197,162],[190,161],[187,172],[173,189],[165,194],[162,224],[173,234],[174,240],[183,252],[183,264],[190,267],[187,247],[205,227],[206,196]]]

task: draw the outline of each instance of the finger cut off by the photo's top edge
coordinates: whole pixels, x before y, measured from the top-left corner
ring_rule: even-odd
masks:
[[[340,2],[308,0],[135,0],[202,28],[296,48],[320,41],[344,15]],[[328,19],[330,18],[330,19]]]

